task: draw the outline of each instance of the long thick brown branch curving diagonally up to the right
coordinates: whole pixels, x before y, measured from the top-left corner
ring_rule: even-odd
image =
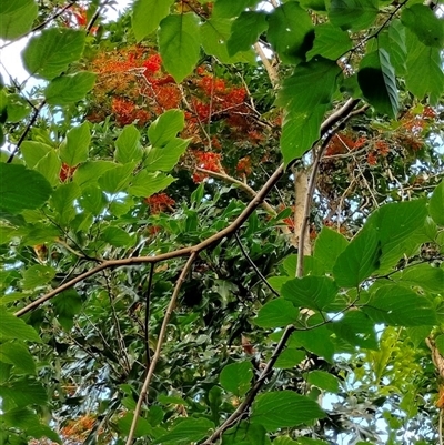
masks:
[[[321,134],[324,134],[326,131],[329,131],[335,122],[337,122],[342,118],[347,117],[349,113],[353,110],[353,108],[357,104],[357,102],[359,102],[359,100],[347,101],[342,108],[340,108],[334,113],[332,113],[321,125]],[[295,162],[295,161],[293,161],[293,162]],[[241,212],[241,214],[230,225],[228,225],[225,229],[222,229],[220,232],[215,233],[214,235],[208,237],[206,240],[203,240],[199,244],[195,244],[195,245],[189,246],[189,247],[178,249],[175,251],[167,252],[167,253],[163,253],[160,255],[132,256],[132,257],[127,257],[127,259],[122,259],[122,260],[104,261],[103,263],[98,264],[95,267],[92,267],[89,271],[83,272],[82,274],[68,281],[67,283],[62,284],[61,286],[52,290],[51,292],[47,293],[46,295],[42,295],[41,297],[29,303],[27,306],[17,311],[16,316],[21,316],[23,314],[27,314],[28,312],[34,310],[36,307],[40,306],[46,301],[60,294],[61,292],[65,291],[67,289],[72,287],[77,283],[80,283],[81,281],[83,281],[92,275],[95,275],[98,272],[103,271],[105,269],[121,267],[121,266],[125,266],[125,265],[129,266],[129,265],[144,264],[144,263],[158,263],[158,262],[164,261],[164,260],[176,259],[180,256],[188,256],[192,252],[195,252],[196,254],[199,254],[199,252],[210,247],[213,244],[219,243],[222,239],[224,239],[225,236],[235,232],[249,219],[249,216],[253,213],[253,211],[265,200],[266,195],[270,193],[270,191],[273,189],[273,186],[278,183],[278,181],[282,178],[283,174],[284,174],[284,164],[281,164],[274,171],[274,173],[270,176],[270,179],[265,182],[265,184],[262,186],[262,189],[256,193],[256,195],[250,201],[250,203]]]

